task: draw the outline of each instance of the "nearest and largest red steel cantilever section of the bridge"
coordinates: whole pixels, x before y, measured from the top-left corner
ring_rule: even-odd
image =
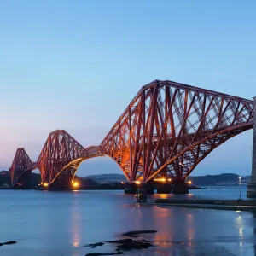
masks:
[[[130,182],[183,182],[207,154],[253,128],[253,101],[172,81],[143,86],[101,146]]]

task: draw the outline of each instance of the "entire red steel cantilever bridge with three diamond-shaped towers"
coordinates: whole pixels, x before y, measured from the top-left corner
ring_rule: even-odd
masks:
[[[67,131],[53,131],[36,162],[18,148],[9,172],[14,186],[37,168],[43,183],[72,183],[82,161],[108,156],[129,183],[166,177],[182,184],[214,148],[251,128],[253,101],[155,80],[139,90],[99,146],[84,148]]]

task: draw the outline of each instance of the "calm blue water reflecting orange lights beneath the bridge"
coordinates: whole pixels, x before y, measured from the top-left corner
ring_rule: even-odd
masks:
[[[237,199],[238,187],[223,190],[191,190],[189,195],[158,197]],[[246,187],[241,188],[245,198]],[[256,214],[180,207],[140,206],[123,191],[50,192],[0,190],[1,256],[82,256],[114,251],[106,245],[84,247],[96,241],[119,238],[129,230],[158,230],[145,236],[154,248],[125,255],[256,255]]]

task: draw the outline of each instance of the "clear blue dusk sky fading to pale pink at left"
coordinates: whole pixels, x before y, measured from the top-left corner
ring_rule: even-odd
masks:
[[[50,131],[97,145],[137,91],[172,80],[256,96],[256,1],[0,1],[0,170],[16,148],[33,161]],[[193,175],[251,173],[252,131]],[[121,173],[108,158],[78,175]]]

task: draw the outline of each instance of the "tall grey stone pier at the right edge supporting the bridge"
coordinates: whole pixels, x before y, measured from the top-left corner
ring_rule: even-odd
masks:
[[[256,97],[253,97],[253,116],[256,116]],[[247,184],[247,197],[256,198],[256,118],[253,118],[253,165],[251,180]]]

